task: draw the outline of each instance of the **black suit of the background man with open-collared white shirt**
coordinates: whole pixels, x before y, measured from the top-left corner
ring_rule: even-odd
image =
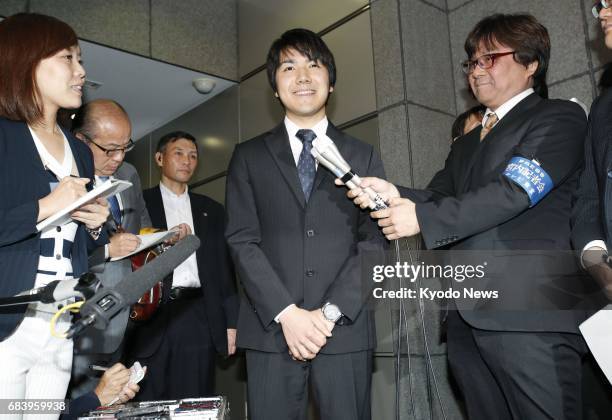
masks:
[[[153,227],[168,229],[159,186],[143,196]],[[202,242],[196,260],[203,293],[185,300],[166,298],[154,318],[133,327],[129,359],[150,363],[140,400],[211,395],[215,353],[227,354],[227,329],[236,328],[238,297],[223,237],[223,206],[191,192],[189,199],[194,234]]]

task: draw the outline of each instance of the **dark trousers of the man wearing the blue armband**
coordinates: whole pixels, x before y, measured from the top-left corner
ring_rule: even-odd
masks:
[[[450,311],[447,342],[470,420],[582,417],[579,335],[478,330]]]

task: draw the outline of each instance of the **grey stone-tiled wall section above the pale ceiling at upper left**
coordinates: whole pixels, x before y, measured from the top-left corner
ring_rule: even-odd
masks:
[[[0,15],[56,16],[80,38],[236,80],[236,7],[227,0],[2,0]]]

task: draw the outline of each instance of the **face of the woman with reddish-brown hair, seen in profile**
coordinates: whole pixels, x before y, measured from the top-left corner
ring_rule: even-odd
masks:
[[[79,46],[60,50],[41,60],[36,67],[35,80],[45,115],[56,113],[59,108],[80,107],[85,69],[81,65]]]

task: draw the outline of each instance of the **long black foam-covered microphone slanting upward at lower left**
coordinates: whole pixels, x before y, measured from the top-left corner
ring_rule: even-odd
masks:
[[[106,328],[112,317],[137,302],[199,247],[200,240],[188,235],[150,263],[127,275],[115,287],[100,290],[81,307],[81,319],[70,327],[67,338],[78,335],[90,325],[101,330]]]

